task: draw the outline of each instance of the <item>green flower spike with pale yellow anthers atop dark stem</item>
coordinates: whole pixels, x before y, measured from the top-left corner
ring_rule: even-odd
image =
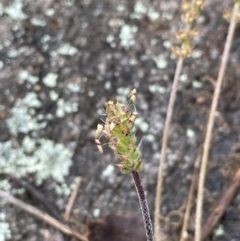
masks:
[[[109,147],[121,159],[121,162],[116,166],[120,168],[122,173],[140,172],[143,169],[141,152],[136,146],[135,133],[132,132],[138,115],[134,105],[136,94],[136,89],[133,89],[128,95],[129,100],[126,104],[108,101],[104,113],[105,123],[104,125],[98,124],[95,134],[95,142],[101,153],[103,153],[103,148],[100,138],[106,137]]]

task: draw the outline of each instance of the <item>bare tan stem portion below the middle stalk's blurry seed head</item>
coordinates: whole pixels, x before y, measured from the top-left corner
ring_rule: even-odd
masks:
[[[164,167],[164,163],[165,163],[165,159],[166,159],[168,132],[169,132],[169,127],[170,127],[170,123],[171,123],[171,119],[172,119],[174,102],[176,99],[178,79],[179,79],[179,76],[182,71],[183,60],[184,60],[183,57],[180,57],[178,59],[175,76],[174,76],[174,80],[173,80],[172,91],[171,91],[170,100],[169,100],[168,109],[167,109],[167,117],[166,117],[166,121],[165,121],[164,133],[163,133],[161,156],[160,156],[160,160],[159,160],[160,167],[159,167],[159,171],[158,171],[158,182],[157,182],[156,199],[155,199],[154,230],[155,230],[156,241],[161,241],[159,217],[160,217],[161,196],[162,196],[163,167]]]

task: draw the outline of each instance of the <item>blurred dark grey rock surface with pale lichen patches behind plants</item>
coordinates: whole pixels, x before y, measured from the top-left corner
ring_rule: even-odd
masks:
[[[222,14],[230,4],[207,1],[196,22],[200,36],[180,76],[170,129],[163,215],[180,209],[188,195],[228,29]],[[44,210],[6,175],[13,174],[63,213],[80,176],[71,225],[82,233],[89,220],[108,213],[140,214],[131,176],[114,166],[117,157],[107,145],[100,154],[94,143],[106,102],[125,102],[136,88],[135,131],[139,140],[144,137],[141,177],[153,216],[176,65],[171,48],[178,44],[175,34],[181,27],[177,0],[1,0],[0,189]],[[238,27],[216,116],[205,215],[221,197],[239,160],[239,33]],[[239,202],[240,195],[219,226],[223,232],[212,240],[239,240]],[[47,240],[46,232],[53,232],[3,200],[0,205],[0,240]]]

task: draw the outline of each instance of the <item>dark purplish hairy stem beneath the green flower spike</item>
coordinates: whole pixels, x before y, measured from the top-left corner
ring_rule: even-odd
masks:
[[[144,227],[145,227],[145,231],[146,231],[147,241],[154,241],[152,222],[150,219],[148,204],[147,204],[147,200],[146,200],[144,190],[142,187],[141,179],[139,177],[138,172],[132,171],[131,174],[132,174],[134,184],[135,184],[135,187],[136,187],[136,190],[138,193],[138,198],[139,198],[139,203],[140,203],[141,210],[142,210],[142,216],[143,216],[143,222],[144,222]]]

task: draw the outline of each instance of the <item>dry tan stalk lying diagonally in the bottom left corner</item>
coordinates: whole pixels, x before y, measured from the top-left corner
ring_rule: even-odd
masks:
[[[60,230],[61,232],[73,236],[75,238],[77,238],[78,240],[81,241],[88,241],[88,239],[84,236],[82,236],[81,234],[79,234],[78,232],[72,230],[71,228],[69,228],[68,226],[60,223],[59,221],[57,221],[56,219],[52,218],[51,216],[49,216],[48,214],[38,210],[37,208],[26,204],[22,201],[20,201],[19,199],[11,196],[10,194],[0,190],[0,197],[5,199],[6,201],[8,201],[9,203],[15,205],[16,207],[21,208],[22,210],[34,215],[37,218],[42,219],[43,221],[45,221],[46,223],[50,224],[51,226],[55,227],[56,229]]]

